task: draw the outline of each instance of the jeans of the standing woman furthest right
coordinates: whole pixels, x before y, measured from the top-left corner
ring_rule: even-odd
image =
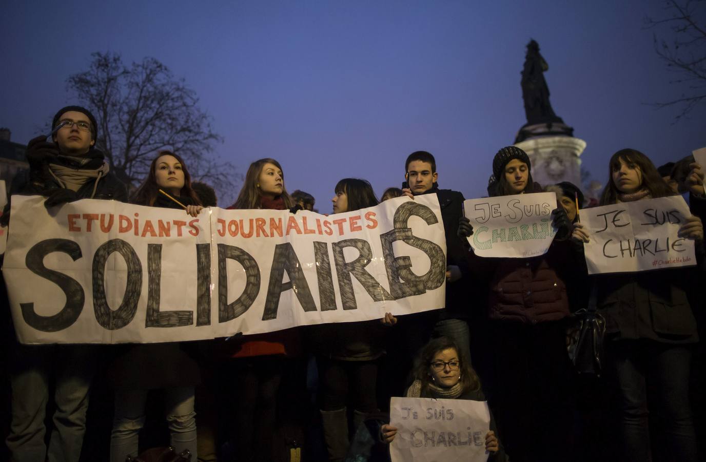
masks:
[[[696,434],[689,403],[691,350],[653,340],[617,340],[611,343],[622,401],[625,461],[650,461],[650,427],[647,389],[663,434],[659,437],[671,460],[697,460]]]

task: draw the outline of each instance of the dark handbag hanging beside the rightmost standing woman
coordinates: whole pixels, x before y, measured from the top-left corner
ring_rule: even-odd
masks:
[[[569,357],[578,374],[601,375],[606,320],[596,310],[596,290],[591,291],[587,308],[575,312],[570,335]]]

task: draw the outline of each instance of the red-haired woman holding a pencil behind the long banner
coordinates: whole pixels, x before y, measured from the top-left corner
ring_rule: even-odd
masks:
[[[191,216],[203,208],[191,189],[191,175],[179,155],[161,151],[152,160],[145,182],[133,196],[143,206],[181,208]],[[115,414],[110,439],[110,461],[137,456],[140,429],[145,425],[148,391],[164,390],[169,444],[196,460],[194,387],[201,379],[198,364],[180,343],[135,345],[117,357],[109,370],[116,388]]]

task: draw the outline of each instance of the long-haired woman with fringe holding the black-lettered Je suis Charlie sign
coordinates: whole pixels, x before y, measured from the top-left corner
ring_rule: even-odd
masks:
[[[611,157],[609,181],[600,205],[647,201],[674,193],[646,155],[623,149]],[[695,239],[702,261],[703,227],[685,217],[679,236]],[[589,242],[586,227],[575,225],[573,237]],[[611,273],[594,278],[597,307],[606,318],[608,367],[618,381],[622,403],[623,461],[648,461],[648,401],[659,409],[664,457],[696,461],[696,437],[688,398],[692,348],[698,342],[690,306],[702,281],[698,266],[662,271]],[[655,396],[647,396],[647,390]]]

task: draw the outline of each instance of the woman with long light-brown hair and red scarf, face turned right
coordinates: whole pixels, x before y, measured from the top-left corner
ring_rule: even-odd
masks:
[[[264,158],[251,163],[240,194],[229,209],[288,210],[292,206],[280,162]],[[292,357],[301,353],[299,331],[289,328],[229,338],[219,350],[226,358],[220,379],[222,402],[228,420],[234,422],[227,429],[234,454],[226,460],[270,461],[277,393],[283,375],[292,368]]]

